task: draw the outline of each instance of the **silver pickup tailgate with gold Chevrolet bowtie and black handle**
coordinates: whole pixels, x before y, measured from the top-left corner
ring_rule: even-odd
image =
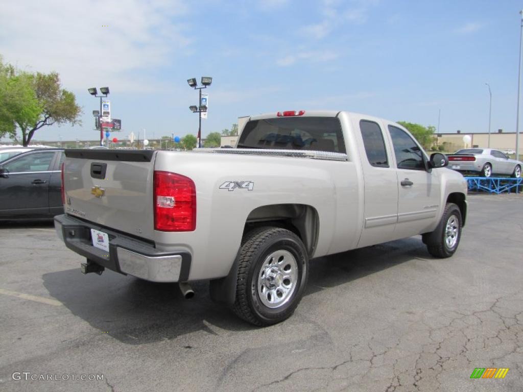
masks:
[[[153,239],[155,151],[66,150],[65,212]]]

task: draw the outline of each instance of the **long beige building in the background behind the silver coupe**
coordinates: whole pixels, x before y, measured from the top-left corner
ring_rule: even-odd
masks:
[[[458,131],[459,132],[459,131]],[[468,137],[466,137],[468,136]],[[523,136],[521,133],[520,137]],[[491,132],[490,147],[501,150],[516,149],[516,132]],[[520,141],[523,142],[523,141]],[[488,147],[488,133],[438,133],[436,146],[444,146],[445,151],[454,152],[460,148]],[[520,146],[522,144],[520,143]]]

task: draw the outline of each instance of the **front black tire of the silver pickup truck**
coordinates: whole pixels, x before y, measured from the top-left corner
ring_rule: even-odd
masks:
[[[451,217],[454,217],[454,224]],[[456,237],[455,240],[453,240],[453,236],[450,235],[449,232],[449,237],[451,238],[449,240],[451,243],[450,245],[447,243],[448,224],[456,229],[454,235],[454,237]],[[461,239],[461,227],[462,218],[459,207],[454,203],[447,203],[443,215],[441,216],[441,220],[434,232],[423,235],[423,242],[427,245],[428,252],[432,256],[438,258],[451,257],[454,252],[456,252],[456,249],[458,249],[459,241]]]

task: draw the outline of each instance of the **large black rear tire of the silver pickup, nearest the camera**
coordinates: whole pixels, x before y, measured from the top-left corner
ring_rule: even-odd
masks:
[[[272,261],[274,257],[269,256],[278,252],[283,252],[282,254],[286,256]],[[289,264],[285,264],[287,263],[286,260],[289,260]],[[292,260],[294,260],[293,263]],[[265,271],[267,271],[267,268],[270,268],[271,263],[274,263],[274,268],[281,268],[282,274],[290,273],[284,272],[282,269],[290,266],[289,271],[291,271],[291,268],[294,268],[292,270],[296,275],[295,279],[293,279],[294,282],[287,280],[290,282],[289,287],[293,287],[293,289],[289,289],[286,294],[283,294],[282,291],[278,292],[279,287],[283,286],[274,289],[265,287],[264,284],[258,285],[258,282],[263,280],[262,276],[266,276],[266,279],[274,279],[272,274],[265,275]],[[263,274],[262,267],[264,267]],[[272,273],[272,270],[270,272]],[[257,326],[268,326],[286,320],[294,313],[301,301],[308,275],[309,257],[301,239],[297,235],[281,227],[254,229],[247,233],[242,240],[242,248],[238,255],[236,299],[232,310],[238,317]],[[283,275],[279,275],[276,278],[274,282],[280,282],[280,285],[284,284],[285,279]],[[265,280],[263,281],[265,282]],[[280,298],[283,298],[281,299],[281,305],[276,303],[278,307],[271,308],[264,304],[264,301],[268,302],[269,299],[261,298],[260,292],[263,287],[265,287],[266,295],[271,299],[274,298],[274,301],[278,302]],[[270,293],[272,291],[269,289],[275,290],[278,298],[271,296]],[[283,289],[286,290],[285,287]],[[272,306],[274,304],[269,305]]]

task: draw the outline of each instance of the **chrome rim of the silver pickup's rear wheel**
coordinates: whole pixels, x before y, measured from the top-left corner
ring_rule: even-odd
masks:
[[[258,296],[261,303],[274,309],[285,305],[298,284],[298,263],[291,252],[276,250],[261,264]]]

